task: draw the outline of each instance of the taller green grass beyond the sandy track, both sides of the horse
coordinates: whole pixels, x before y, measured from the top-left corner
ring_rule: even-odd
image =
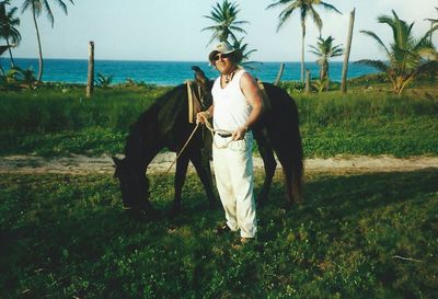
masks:
[[[2,92],[0,154],[100,156],[123,151],[129,126],[169,88],[51,88]],[[335,154],[438,154],[434,95],[353,89],[293,94],[307,158]]]

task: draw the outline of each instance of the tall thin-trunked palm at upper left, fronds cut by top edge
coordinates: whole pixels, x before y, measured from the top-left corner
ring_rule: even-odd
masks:
[[[54,0],[67,14],[67,4],[66,1],[62,0]],[[73,0],[68,0],[71,4],[74,4]],[[36,31],[36,39],[38,43],[38,54],[39,54],[39,69],[37,81],[41,82],[43,78],[43,49],[39,37],[38,23],[36,22],[36,18],[41,15],[43,11],[46,12],[48,20],[50,21],[51,27],[54,27],[55,18],[51,12],[51,8],[48,0],[24,0],[22,12],[24,13],[26,10],[30,10],[32,13],[32,18],[34,20],[35,31]]]

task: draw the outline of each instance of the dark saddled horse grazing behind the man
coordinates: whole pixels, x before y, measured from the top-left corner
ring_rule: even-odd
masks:
[[[199,91],[203,110],[211,105],[211,85],[204,72],[195,70],[195,90]],[[287,92],[264,83],[269,105],[252,128],[254,139],[265,165],[265,181],[257,197],[258,204],[267,199],[276,169],[274,151],[285,174],[286,195],[289,204],[300,199],[303,176],[303,154],[298,126],[298,110]],[[150,211],[147,166],[162,150],[180,152],[195,124],[187,120],[187,89],[181,84],[158,99],[132,125],[125,147],[125,158],[113,158],[115,176],[119,180],[124,206],[132,210]],[[173,210],[181,207],[181,193],[192,161],[205,187],[210,207],[216,203],[209,164],[211,138],[206,128],[198,129],[194,138],[176,161],[175,197]]]

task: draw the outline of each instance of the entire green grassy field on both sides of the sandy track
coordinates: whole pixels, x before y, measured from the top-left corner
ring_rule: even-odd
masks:
[[[1,92],[0,156],[120,153],[129,125],[166,90]],[[436,88],[291,92],[306,158],[438,156]],[[223,211],[207,209],[196,176],[175,218],[172,175],[149,179],[160,215],[139,220],[122,210],[111,175],[0,174],[0,298],[437,298],[436,169],[308,173],[291,209],[277,174],[245,246],[215,234]]]

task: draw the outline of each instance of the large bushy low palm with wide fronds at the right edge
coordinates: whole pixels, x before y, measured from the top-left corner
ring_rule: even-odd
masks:
[[[356,64],[368,65],[387,73],[395,93],[401,94],[403,89],[423,72],[436,71],[438,69],[437,51],[429,37],[434,31],[438,30],[438,24],[426,32],[419,39],[412,36],[414,23],[407,24],[400,20],[395,11],[392,11],[393,18],[380,15],[378,22],[388,24],[392,28],[394,42],[387,47],[376,33],[370,31],[360,31],[373,38],[378,46],[384,51],[387,61],[362,59]],[[424,58],[434,58],[425,60]]]

